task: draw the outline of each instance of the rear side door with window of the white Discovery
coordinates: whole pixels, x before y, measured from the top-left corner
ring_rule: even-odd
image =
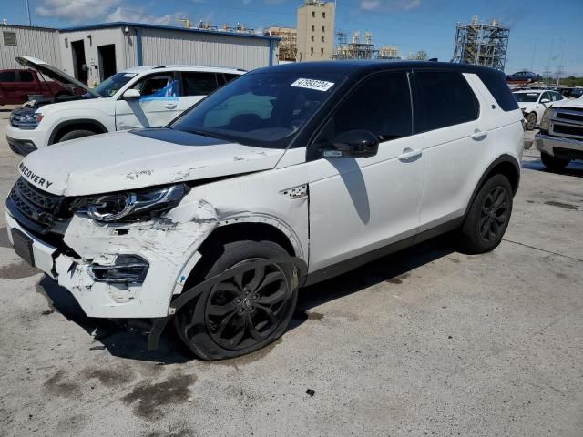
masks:
[[[415,111],[415,126],[427,129],[415,136],[425,165],[420,232],[464,214],[476,173],[481,176],[496,136],[491,117],[486,117],[488,107],[480,105],[484,99],[473,86],[476,75],[439,71],[424,75],[415,75],[414,82],[414,106],[424,111]],[[419,118],[424,121],[417,123]]]

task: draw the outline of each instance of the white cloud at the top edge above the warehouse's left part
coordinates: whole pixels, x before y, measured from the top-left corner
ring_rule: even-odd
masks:
[[[43,0],[36,7],[36,14],[61,18],[73,23],[95,20],[119,5],[120,0]]]

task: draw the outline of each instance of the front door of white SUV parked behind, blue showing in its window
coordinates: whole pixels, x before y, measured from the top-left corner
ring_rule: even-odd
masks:
[[[172,73],[147,76],[133,88],[139,99],[116,101],[117,130],[164,126],[179,115],[179,83]]]

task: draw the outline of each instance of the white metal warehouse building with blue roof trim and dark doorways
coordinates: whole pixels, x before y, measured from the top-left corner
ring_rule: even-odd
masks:
[[[132,66],[277,64],[279,38],[199,28],[106,23],[62,29],[0,25],[0,69],[15,56],[41,58],[89,86]]]

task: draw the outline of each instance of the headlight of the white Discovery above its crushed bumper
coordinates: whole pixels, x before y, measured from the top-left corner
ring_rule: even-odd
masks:
[[[78,199],[71,207],[76,212],[86,213],[89,218],[97,221],[149,219],[176,207],[189,190],[189,186],[179,184],[127,193],[105,194]]]

